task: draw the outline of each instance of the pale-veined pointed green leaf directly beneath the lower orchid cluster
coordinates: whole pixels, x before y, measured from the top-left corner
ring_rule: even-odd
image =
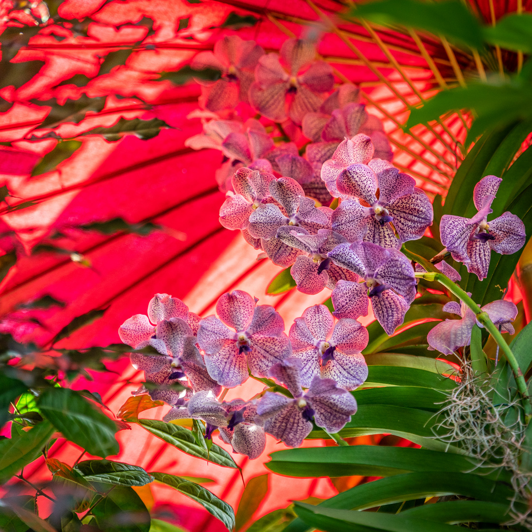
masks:
[[[155,419],[139,419],[138,423],[148,432],[157,436],[157,438],[161,438],[187,454],[222,465],[223,467],[238,469],[235,461],[227,451],[223,450],[219,445],[213,444],[211,450],[207,452],[206,447],[200,447],[196,443],[192,431],[185,427]]]

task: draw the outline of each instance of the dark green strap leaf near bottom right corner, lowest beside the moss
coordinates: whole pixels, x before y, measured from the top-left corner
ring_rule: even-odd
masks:
[[[402,511],[401,518],[429,519],[455,525],[457,523],[505,523],[510,520],[508,505],[483,501],[448,501],[425,504]]]

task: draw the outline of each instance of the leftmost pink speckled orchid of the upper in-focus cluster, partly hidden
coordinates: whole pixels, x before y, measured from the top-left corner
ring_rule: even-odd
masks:
[[[253,211],[259,205],[273,201],[268,188],[273,180],[275,176],[271,173],[250,168],[237,170],[231,181],[235,194],[228,196],[220,207],[221,225],[226,229],[247,229]]]

